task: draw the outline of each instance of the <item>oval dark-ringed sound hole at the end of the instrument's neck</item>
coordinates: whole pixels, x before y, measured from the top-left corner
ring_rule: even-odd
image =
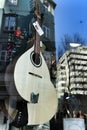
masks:
[[[42,64],[42,59],[41,56],[38,53],[32,52],[30,55],[31,62],[33,63],[34,66],[40,67]]]

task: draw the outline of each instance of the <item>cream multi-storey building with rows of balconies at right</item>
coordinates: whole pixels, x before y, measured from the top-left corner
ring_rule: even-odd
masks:
[[[77,102],[73,100],[74,105],[72,106],[71,104],[71,106],[74,110],[74,106],[78,106],[78,110],[81,110],[83,113],[87,113],[86,70],[87,46],[81,46],[76,49],[66,51],[65,54],[59,59],[57,65],[56,90],[58,99],[63,98],[65,93],[68,94],[67,96],[75,97]]]

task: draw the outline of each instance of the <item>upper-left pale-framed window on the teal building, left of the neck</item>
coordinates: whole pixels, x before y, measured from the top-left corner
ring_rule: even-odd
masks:
[[[14,32],[16,29],[16,16],[11,14],[4,15],[4,24],[3,31],[4,32]]]

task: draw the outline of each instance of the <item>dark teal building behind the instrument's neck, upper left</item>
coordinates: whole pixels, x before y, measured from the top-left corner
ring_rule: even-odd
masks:
[[[38,2],[43,17],[44,35],[41,40],[46,46],[46,51],[55,52],[54,10],[56,4],[52,0],[38,0]],[[17,27],[26,31],[28,38],[33,35],[34,0],[4,0],[3,8],[0,9],[0,17],[0,48],[4,54],[8,35],[14,33]]]

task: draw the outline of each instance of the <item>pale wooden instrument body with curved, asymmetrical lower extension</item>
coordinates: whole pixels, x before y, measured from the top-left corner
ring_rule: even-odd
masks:
[[[28,125],[48,122],[56,113],[57,96],[44,58],[34,63],[34,46],[19,57],[14,69],[15,86],[28,101]]]

